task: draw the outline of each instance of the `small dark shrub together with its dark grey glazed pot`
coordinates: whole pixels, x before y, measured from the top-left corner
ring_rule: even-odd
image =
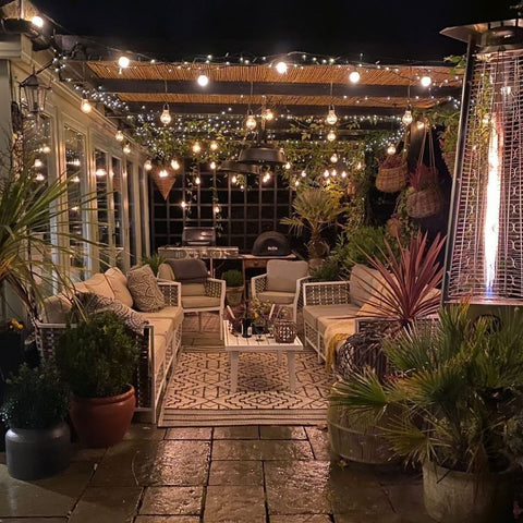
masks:
[[[71,434],[64,422],[69,390],[56,367],[31,368],[24,363],[8,386],[0,417],[9,427],[9,474],[17,479],[39,479],[65,469],[71,458]]]

